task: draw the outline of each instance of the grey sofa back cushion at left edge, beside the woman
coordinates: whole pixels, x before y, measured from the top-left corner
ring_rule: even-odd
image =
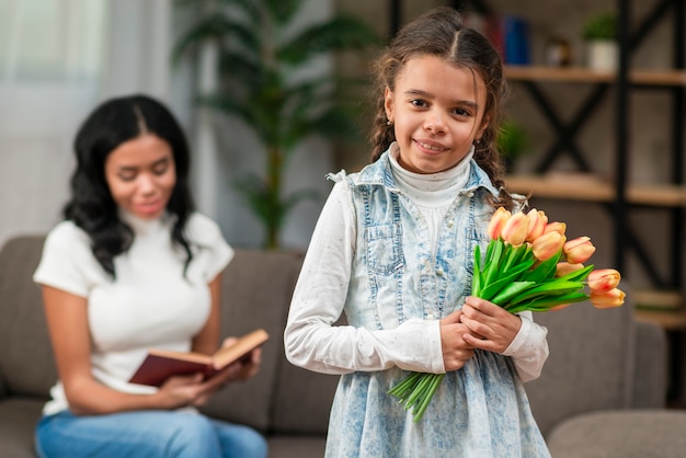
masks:
[[[4,390],[47,398],[57,380],[41,288],[33,273],[44,237],[16,237],[0,250],[0,373]],[[19,343],[19,344],[18,344]]]

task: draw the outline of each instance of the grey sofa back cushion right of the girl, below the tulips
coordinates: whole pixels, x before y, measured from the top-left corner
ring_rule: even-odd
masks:
[[[536,313],[548,328],[550,356],[525,385],[544,436],[556,423],[593,410],[624,409],[633,390],[634,323],[631,304],[597,310],[590,302]]]

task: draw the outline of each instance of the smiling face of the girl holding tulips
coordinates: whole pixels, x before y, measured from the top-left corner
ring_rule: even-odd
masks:
[[[386,88],[386,114],[395,123],[400,164],[415,173],[436,173],[455,167],[480,139],[485,84],[481,77],[436,56],[408,60]]]

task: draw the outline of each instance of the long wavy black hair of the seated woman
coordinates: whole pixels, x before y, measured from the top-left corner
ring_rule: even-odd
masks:
[[[64,209],[91,238],[91,249],[100,265],[116,276],[114,257],[126,252],[134,231],[119,219],[117,205],[105,181],[107,156],[122,144],[150,133],[172,149],[176,183],[167,204],[174,218],[172,240],[186,253],[185,268],[193,259],[184,234],[185,224],[194,209],[188,187],[190,152],[181,126],[160,102],[146,95],[111,99],[98,106],[79,128],[73,148],[77,168],[71,176],[71,198]]]

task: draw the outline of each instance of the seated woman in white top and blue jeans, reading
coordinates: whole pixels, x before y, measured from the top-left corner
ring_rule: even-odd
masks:
[[[211,354],[219,342],[220,274],[233,251],[193,211],[179,124],[150,98],[114,99],[85,119],[75,148],[65,220],[34,274],[59,373],[38,455],[265,457],[256,432],[194,409],[252,377],[260,351],[207,381],[128,382],[150,347]]]

